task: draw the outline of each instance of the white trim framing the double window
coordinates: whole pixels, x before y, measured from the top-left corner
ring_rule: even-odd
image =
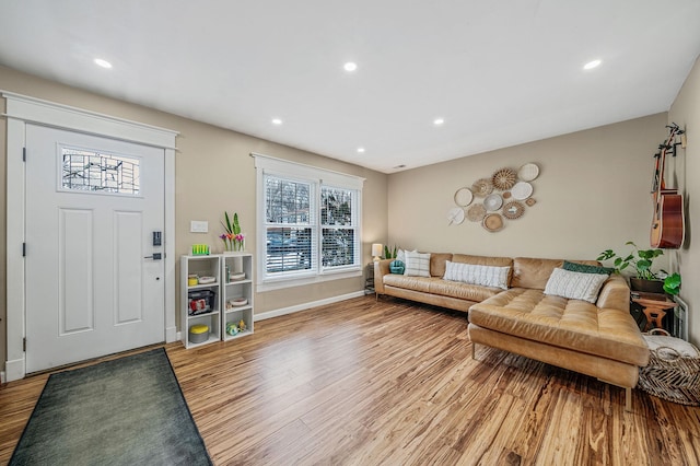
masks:
[[[250,156],[255,159],[255,168],[256,168],[256,218],[257,218],[257,277],[256,277],[256,290],[259,292],[262,291],[271,291],[279,290],[283,288],[290,287],[300,287],[307,286],[313,283],[320,283],[329,280],[339,280],[345,278],[353,278],[362,276],[362,264],[361,257],[357,265],[348,266],[348,267],[339,267],[334,270],[324,270],[318,272],[310,272],[306,277],[280,277],[280,278],[268,278],[264,280],[265,276],[265,264],[266,264],[266,251],[265,244],[266,242],[260,240],[262,232],[265,229],[265,215],[261,215],[259,212],[262,211],[262,198],[264,198],[264,175],[272,174],[279,175],[281,177],[290,177],[290,178],[299,178],[299,179],[318,179],[323,183],[323,185],[337,187],[337,188],[346,188],[346,189],[357,189],[358,190],[358,206],[357,206],[357,218],[358,218],[358,247],[362,244],[362,187],[364,186],[365,178],[354,175],[348,175],[340,172],[335,172],[331,170],[319,168],[312,165],[306,165],[303,163],[291,162],[288,160],[282,160],[278,158],[273,158],[270,155],[264,155],[259,153],[252,152]],[[319,193],[317,194],[319,196]]]

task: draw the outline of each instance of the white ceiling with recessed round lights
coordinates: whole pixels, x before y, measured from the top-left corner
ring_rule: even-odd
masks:
[[[699,0],[0,0],[0,63],[393,173],[665,112],[699,24]]]

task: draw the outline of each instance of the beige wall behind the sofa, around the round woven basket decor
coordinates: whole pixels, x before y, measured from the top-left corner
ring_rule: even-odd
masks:
[[[401,247],[480,255],[595,258],[649,245],[653,153],[666,114],[435,164],[389,177],[389,240]],[[501,167],[534,162],[537,203],[497,233],[447,225],[454,193]]]

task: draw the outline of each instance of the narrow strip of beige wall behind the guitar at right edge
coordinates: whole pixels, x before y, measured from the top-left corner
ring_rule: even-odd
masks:
[[[680,296],[690,308],[690,341],[700,346],[700,248],[693,245],[693,232],[700,231],[700,59],[668,112],[668,121],[687,132],[687,148],[677,159],[677,178],[686,203],[686,242],[678,254],[682,284]],[[672,161],[673,162],[673,161]],[[673,167],[673,165],[672,165]]]

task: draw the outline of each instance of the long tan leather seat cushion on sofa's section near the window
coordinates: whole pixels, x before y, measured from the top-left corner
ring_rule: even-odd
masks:
[[[384,286],[474,302],[483,301],[503,291],[500,288],[447,281],[438,277],[406,277],[401,275],[385,275]]]

